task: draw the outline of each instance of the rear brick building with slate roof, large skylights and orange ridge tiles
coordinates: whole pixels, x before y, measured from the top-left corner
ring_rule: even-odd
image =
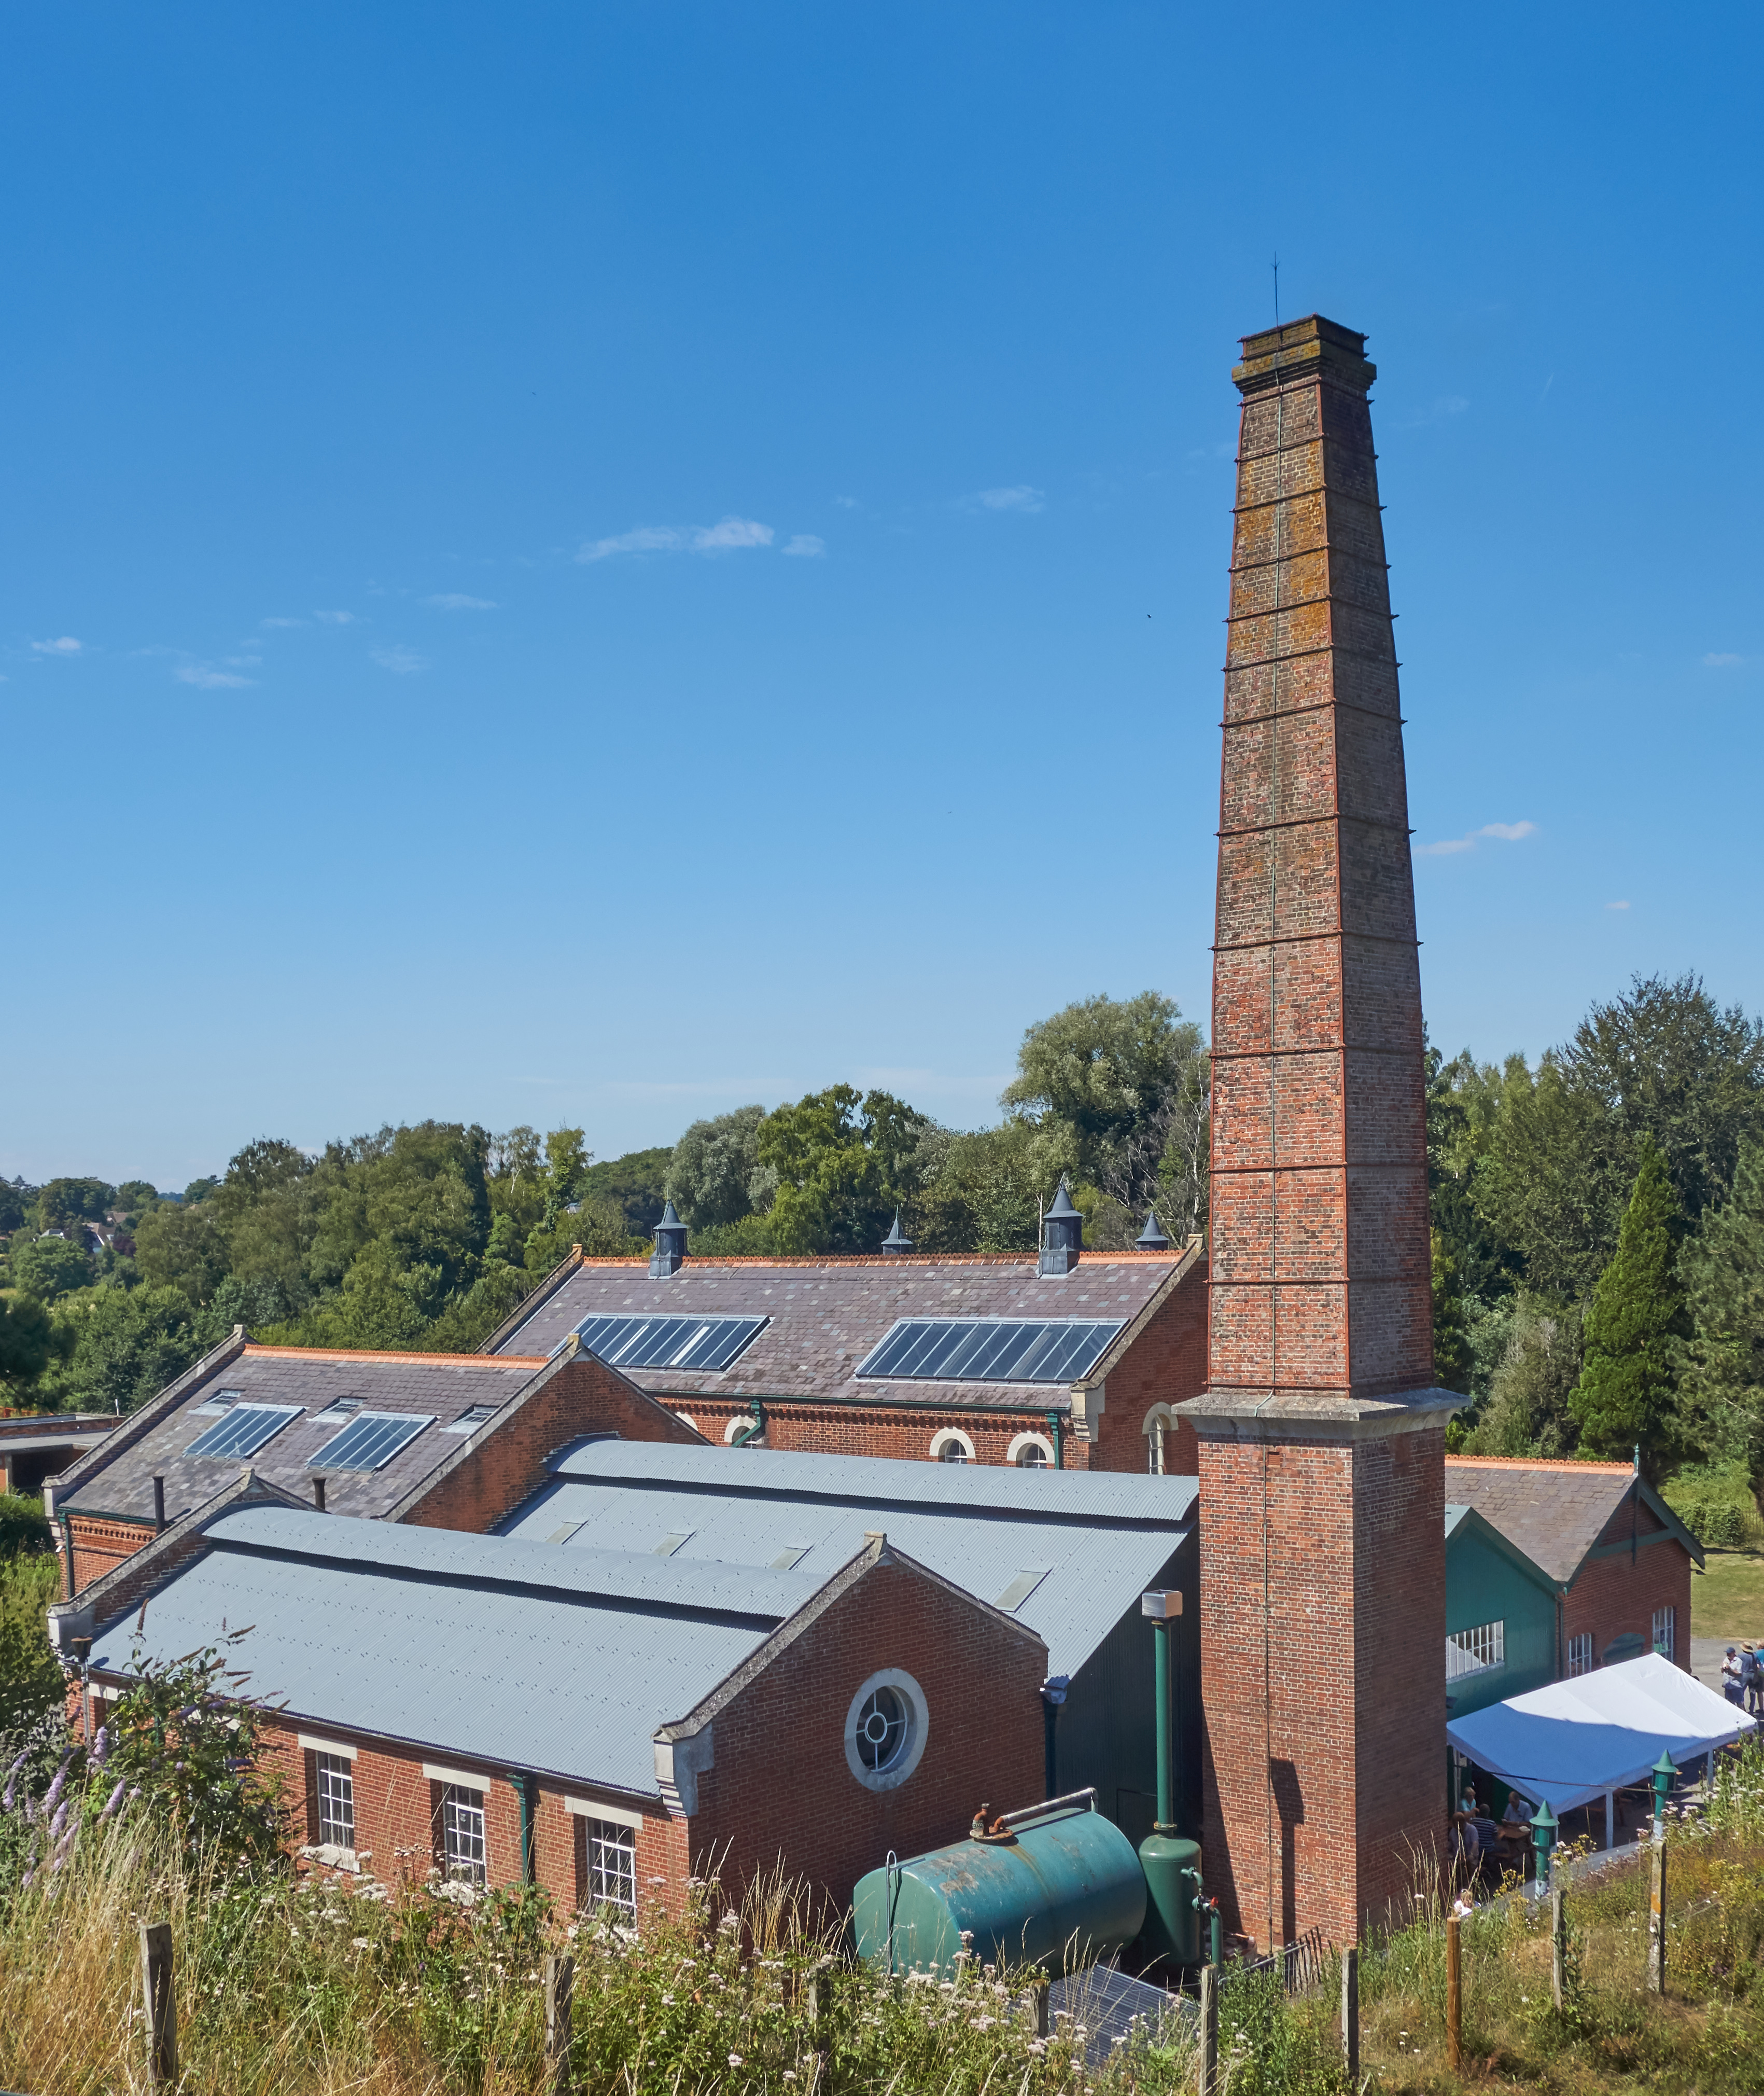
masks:
[[[578,1251],[484,1352],[545,1356],[570,1333],[706,1440],[758,1419],[771,1448],[1192,1476],[1173,1409],[1207,1381],[1207,1262],[1198,1243],[647,1266]]]

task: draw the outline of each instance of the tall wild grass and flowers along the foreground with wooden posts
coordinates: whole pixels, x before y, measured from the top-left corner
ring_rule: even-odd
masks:
[[[1575,1886],[1571,1987],[1550,2006],[1546,1916],[1513,1893],[1462,1933],[1464,2073],[1446,2065],[1446,1930],[1423,1909],[1362,1956],[1368,2092],[1525,2086],[1548,2096],[1764,2090],[1764,1750],[1730,1763],[1716,1828],[1670,1834],[1670,1993],[1642,1991],[1636,1865]],[[574,2075],[587,2096],[1177,2096],[1186,2033],[1083,2060],[1081,2033],[1033,2035],[1016,1983],[853,1968],[773,1882],[725,1914],[559,1928],[532,1893],[461,1905],[195,1863],[163,1826],[103,1830],[59,1874],[0,1903],[0,2088],[140,2088],[136,1922],[172,1922],[182,2096],[538,2096],[541,1960],[576,1958]],[[830,2006],[809,2018],[811,1977]],[[1286,2002],[1228,1974],[1228,2096],[1351,2096],[1332,1979]]]

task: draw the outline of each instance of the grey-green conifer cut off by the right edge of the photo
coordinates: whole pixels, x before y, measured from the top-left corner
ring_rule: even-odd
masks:
[[[1684,1247],[1691,1344],[1678,1377],[1686,1438],[1739,1457],[1764,1494],[1764,1144],[1747,1142],[1733,1193]],[[1764,1503],[1764,1497],[1760,1497]]]

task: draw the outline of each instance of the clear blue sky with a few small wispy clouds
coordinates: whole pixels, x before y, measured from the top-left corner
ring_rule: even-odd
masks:
[[[1758,44],[13,10],[0,1172],[834,1079],[972,1126],[1071,998],[1205,1021],[1276,252],[1383,373],[1435,1040],[1764,1006]]]

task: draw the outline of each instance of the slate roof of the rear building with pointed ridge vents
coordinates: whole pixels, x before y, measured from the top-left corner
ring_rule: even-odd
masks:
[[[897,1318],[1096,1318],[1121,1323],[1083,1383],[1108,1375],[1146,1314],[1198,1249],[1085,1251],[1064,1279],[1033,1253],[853,1260],[687,1260],[652,1281],[641,1260],[570,1260],[492,1333],[486,1352],[551,1354],[589,1316],[765,1316],[725,1371],[624,1369],[654,1396],[807,1398],[848,1404],[970,1404],[1068,1411],[1066,1383],[945,1383],[853,1373]]]

